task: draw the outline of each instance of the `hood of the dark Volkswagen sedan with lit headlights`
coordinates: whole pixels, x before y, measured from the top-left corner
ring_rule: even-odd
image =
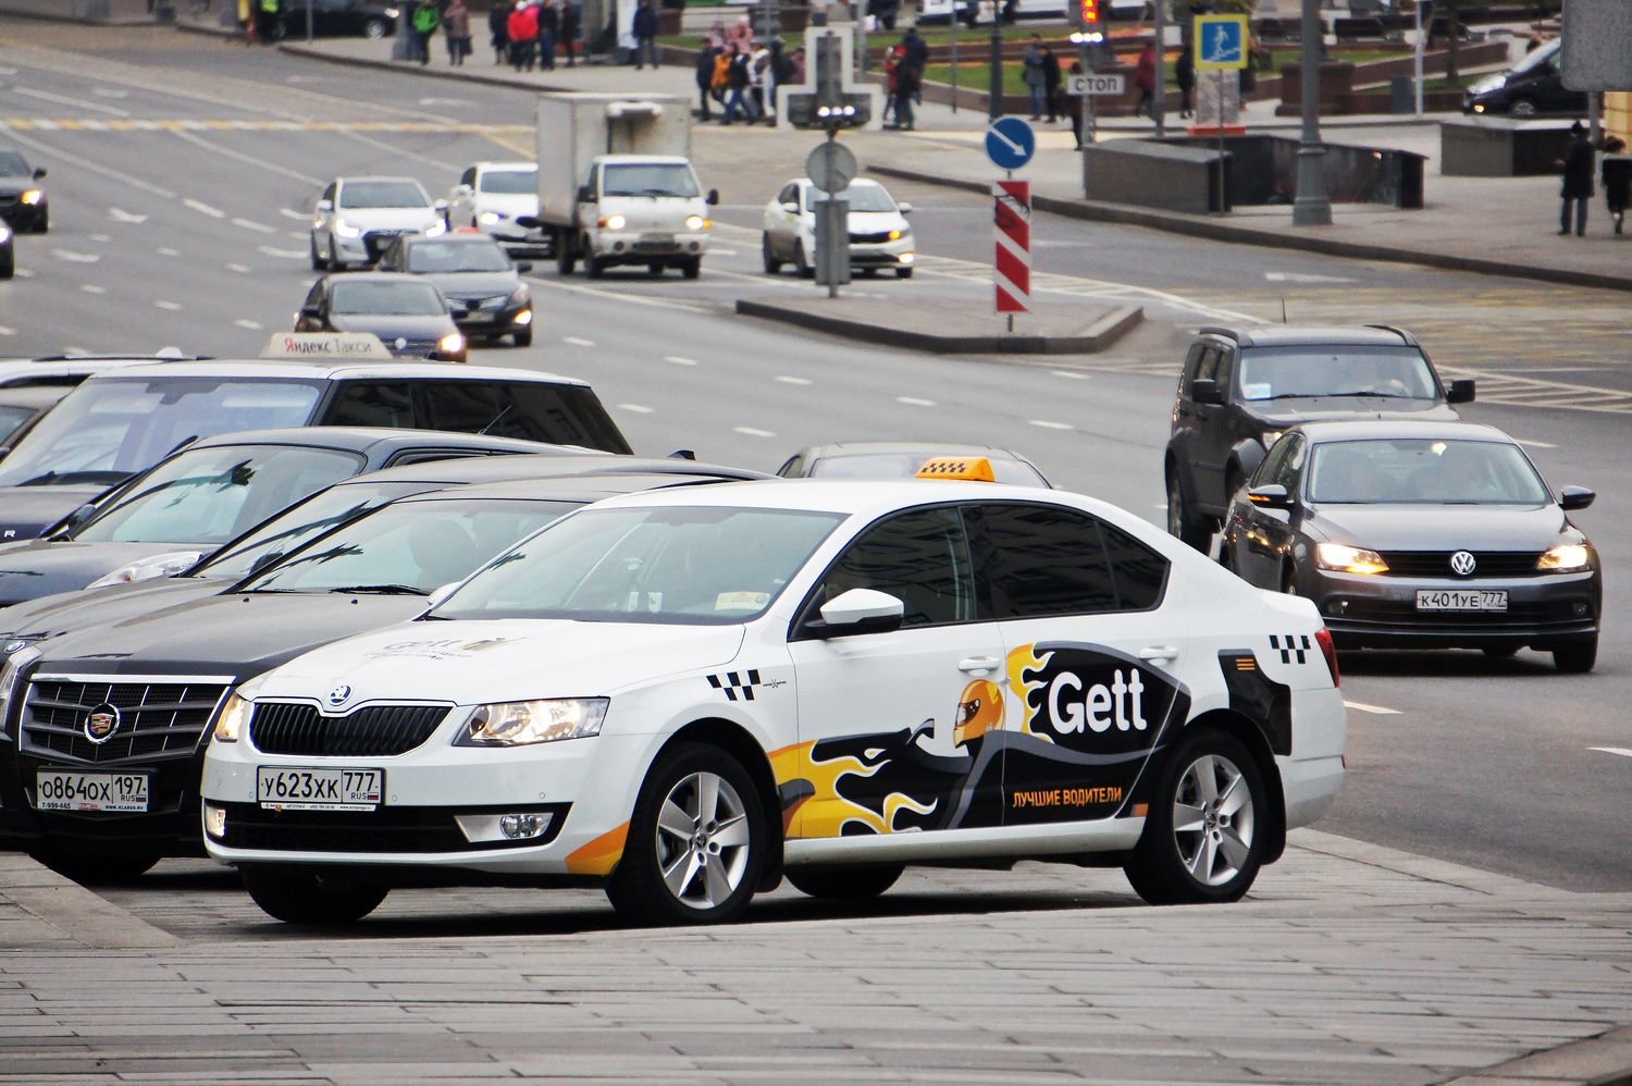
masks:
[[[1568,526],[1555,505],[1320,505],[1309,527],[1371,550],[1546,550]]]

